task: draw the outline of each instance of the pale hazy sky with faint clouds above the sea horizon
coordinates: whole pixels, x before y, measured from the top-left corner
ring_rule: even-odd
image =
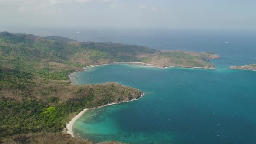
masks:
[[[256,0],[0,0],[0,26],[256,29]]]

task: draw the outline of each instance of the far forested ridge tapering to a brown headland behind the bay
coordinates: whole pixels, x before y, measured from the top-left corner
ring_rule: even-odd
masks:
[[[112,62],[144,62],[158,67],[181,66],[213,69],[212,52],[150,49],[120,43],[66,42],[32,34],[0,33],[0,64],[49,79],[68,79],[68,73],[88,65]]]

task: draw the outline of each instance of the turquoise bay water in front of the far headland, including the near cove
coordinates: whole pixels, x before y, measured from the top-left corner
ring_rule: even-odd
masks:
[[[78,85],[118,82],[145,93],[137,101],[85,112],[76,137],[131,144],[256,143],[256,72],[112,64],[74,75]],[[87,78],[92,78],[88,80]]]

